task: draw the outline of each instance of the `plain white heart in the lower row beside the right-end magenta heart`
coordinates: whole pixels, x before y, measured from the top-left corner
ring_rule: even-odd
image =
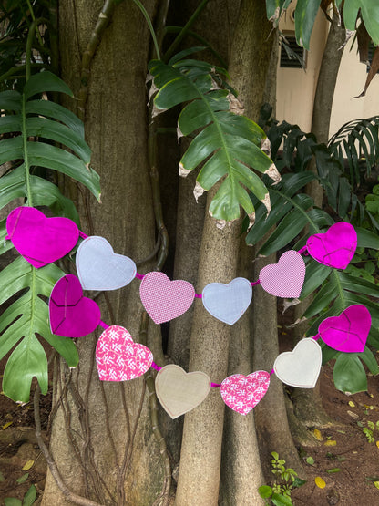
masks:
[[[321,361],[321,347],[312,337],[308,337],[299,341],[293,351],[277,356],[273,370],[286,385],[313,388],[320,374]]]

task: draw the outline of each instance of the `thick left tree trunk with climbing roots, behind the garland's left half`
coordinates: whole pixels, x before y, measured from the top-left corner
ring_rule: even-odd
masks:
[[[144,5],[153,14],[154,2]],[[62,74],[76,97],[80,60],[101,7],[98,1],[77,0],[73,10],[73,2],[60,2]],[[149,31],[142,15],[131,2],[118,5],[88,76],[86,136],[92,166],[100,173],[103,203],[78,202],[82,230],[103,235],[116,253],[135,261],[148,256],[155,243],[145,122],[148,55]],[[141,270],[149,268],[151,264]],[[108,305],[101,304],[102,320],[125,326],[135,341],[143,309],[138,288],[134,280],[109,293]],[[149,338],[159,339],[158,327],[150,326]],[[67,488],[77,495],[102,504],[151,504],[162,491],[165,471],[144,378],[100,382],[95,345],[95,336],[79,339],[80,367],[61,369],[52,456]],[[68,503],[49,473],[43,504]]]

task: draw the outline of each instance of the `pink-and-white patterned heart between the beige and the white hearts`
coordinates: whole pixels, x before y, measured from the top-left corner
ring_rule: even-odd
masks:
[[[265,396],[270,386],[270,374],[256,371],[249,376],[234,374],[221,383],[221,397],[225,404],[241,415],[247,415]]]

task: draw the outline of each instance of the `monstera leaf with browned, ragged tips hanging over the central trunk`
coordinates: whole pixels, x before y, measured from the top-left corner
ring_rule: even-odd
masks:
[[[194,139],[180,160],[180,174],[186,175],[204,163],[196,196],[221,181],[210,204],[213,218],[235,220],[240,216],[240,206],[252,215],[254,206],[248,191],[270,211],[269,192],[252,169],[275,181],[280,181],[280,175],[261,150],[266,140],[264,131],[251,119],[230,111],[230,90],[219,87],[225,84],[225,71],[197,60],[175,59],[170,65],[153,60],[149,72],[159,89],[154,98],[156,113],[186,103],[179,115],[179,132]]]

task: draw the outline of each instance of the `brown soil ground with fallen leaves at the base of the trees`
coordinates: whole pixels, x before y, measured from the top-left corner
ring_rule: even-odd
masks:
[[[321,393],[323,407],[336,425],[320,429],[317,446],[302,447],[307,482],[292,491],[293,504],[379,506],[379,489],[375,486],[376,482],[379,487],[379,429],[374,429],[372,442],[364,434],[368,421],[379,420],[379,376],[368,377],[367,392],[346,396],[335,389],[333,368],[326,365],[321,374]],[[41,397],[45,431],[50,405],[51,394]],[[314,460],[312,465],[307,463],[309,457]],[[23,470],[25,467],[29,469]],[[316,485],[317,477],[323,479],[323,489]],[[18,406],[1,394],[0,504],[5,504],[6,497],[22,500],[31,484],[36,486],[38,504],[45,479],[46,462],[36,444],[32,403]]]

